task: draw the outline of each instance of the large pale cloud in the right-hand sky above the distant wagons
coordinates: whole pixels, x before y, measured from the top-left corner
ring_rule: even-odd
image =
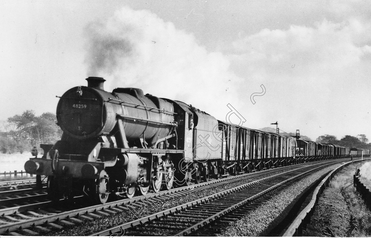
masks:
[[[263,113],[264,118],[282,115],[280,120],[290,121],[291,130],[305,128],[311,134],[303,134],[312,138],[323,133],[320,126],[328,130],[326,134],[354,130],[371,134],[356,116],[364,110],[355,113],[358,105],[371,103],[361,93],[371,90],[366,73],[371,63],[370,30],[370,22],[355,18],[340,23],[323,20],[315,27],[263,29],[233,42],[231,69],[265,84],[269,105],[260,104],[253,113]],[[249,91],[249,86],[243,85],[242,91]],[[341,128],[334,126],[340,121]]]

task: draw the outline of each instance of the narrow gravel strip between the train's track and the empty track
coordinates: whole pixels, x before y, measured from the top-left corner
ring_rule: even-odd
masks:
[[[305,164],[302,164],[305,165]],[[267,173],[260,174],[258,177],[249,178],[249,179],[242,179],[237,182],[233,182],[224,186],[219,186],[215,188],[210,188],[202,191],[197,192],[191,192],[189,194],[186,194],[181,197],[175,197],[175,198],[169,198],[164,201],[158,201],[154,204],[141,204],[141,203],[134,203],[133,209],[131,211],[125,211],[125,212],[118,212],[114,215],[111,215],[109,217],[101,217],[98,219],[95,219],[94,221],[87,221],[82,224],[73,226],[73,227],[67,227],[65,229],[61,229],[59,231],[55,232],[49,232],[43,235],[67,235],[67,236],[83,236],[92,234],[94,232],[100,231],[102,229],[106,229],[109,227],[112,227],[114,225],[132,221],[141,217],[145,217],[147,215],[163,211],[165,209],[169,209],[172,207],[175,207],[177,205],[194,201],[199,198],[207,197],[211,194],[215,194],[217,192],[221,192],[230,188],[234,188],[240,185],[244,185],[248,182],[252,182],[261,178],[265,178],[274,174],[279,174],[281,172],[292,170],[291,168],[282,168],[282,170],[275,170],[275,171],[267,171]],[[169,195],[171,196],[171,195]],[[137,206],[135,206],[137,205]]]

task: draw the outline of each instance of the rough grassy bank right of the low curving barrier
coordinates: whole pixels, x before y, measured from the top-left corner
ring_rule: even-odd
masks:
[[[357,168],[360,168],[361,177],[370,172],[366,168],[362,170],[359,164],[349,165],[339,171],[319,198],[311,222],[303,229],[303,236],[371,236],[371,212],[357,187],[354,187]]]

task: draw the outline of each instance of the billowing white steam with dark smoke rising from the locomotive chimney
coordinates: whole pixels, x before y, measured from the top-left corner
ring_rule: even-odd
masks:
[[[240,79],[229,71],[227,56],[207,52],[192,34],[150,11],[125,7],[109,19],[91,23],[86,35],[88,75],[104,77],[111,87],[142,88],[216,117],[218,104],[236,100],[232,99],[236,87],[230,82],[236,85]]]

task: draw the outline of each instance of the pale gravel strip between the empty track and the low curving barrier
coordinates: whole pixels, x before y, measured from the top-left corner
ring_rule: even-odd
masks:
[[[273,222],[285,208],[322,175],[334,170],[339,164],[331,165],[311,175],[303,177],[295,184],[283,189],[279,194],[271,197],[265,204],[247,213],[242,219],[234,222],[229,227],[223,229],[220,234],[210,234],[217,236],[265,236],[265,231],[269,229]]]

